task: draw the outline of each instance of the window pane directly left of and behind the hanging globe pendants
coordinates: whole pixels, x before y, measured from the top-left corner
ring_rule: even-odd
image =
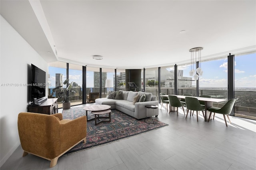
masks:
[[[189,76],[190,70],[191,65],[178,65],[178,95],[192,94],[193,96],[196,96],[196,80]]]

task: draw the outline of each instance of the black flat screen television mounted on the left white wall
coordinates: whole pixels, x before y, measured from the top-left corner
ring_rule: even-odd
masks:
[[[43,103],[47,98],[46,94],[46,72],[31,64],[31,102]]]

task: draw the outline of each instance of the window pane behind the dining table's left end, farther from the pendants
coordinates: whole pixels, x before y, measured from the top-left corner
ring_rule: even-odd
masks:
[[[160,75],[161,93],[174,94],[174,66],[161,67]]]

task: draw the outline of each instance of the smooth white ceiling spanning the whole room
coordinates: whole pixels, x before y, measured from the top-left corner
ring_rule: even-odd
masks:
[[[47,62],[142,69],[190,63],[193,47],[204,48],[202,60],[256,50],[255,0],[0,3],[1,15]]]

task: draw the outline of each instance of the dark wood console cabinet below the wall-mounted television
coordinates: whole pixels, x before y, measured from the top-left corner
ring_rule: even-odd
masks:
[[[41,103],[41,105],[29,105],[28,112],[43,113],[47,115],[58,113],[57,100],[58,98],[51,98],[51,99],[46,98],[44,103]]]

